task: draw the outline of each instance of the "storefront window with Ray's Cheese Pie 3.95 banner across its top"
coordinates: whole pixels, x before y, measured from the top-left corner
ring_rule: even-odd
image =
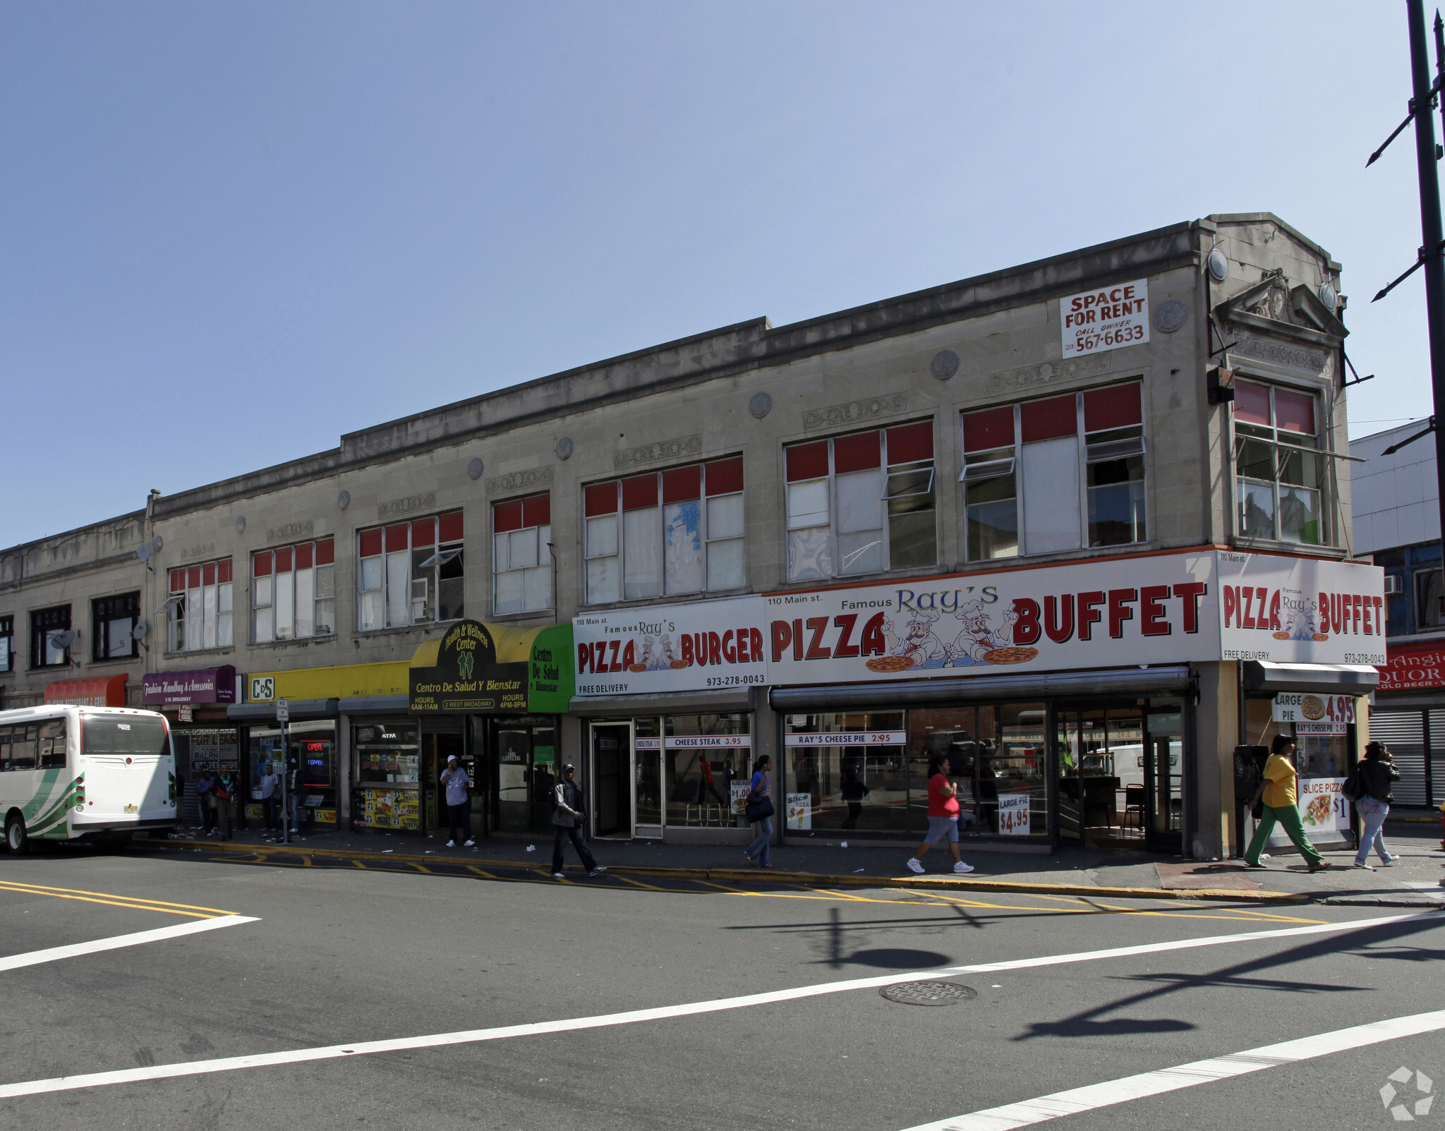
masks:
[[[789,715],[783,737],[788,831],[910,828],[903,719],[902,711]]]

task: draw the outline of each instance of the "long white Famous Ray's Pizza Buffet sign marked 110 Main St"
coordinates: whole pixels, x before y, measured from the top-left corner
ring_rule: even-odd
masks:
[[[769,676],[841,683],[1218,659],[1214,576],[1204,552],[772,594]]]

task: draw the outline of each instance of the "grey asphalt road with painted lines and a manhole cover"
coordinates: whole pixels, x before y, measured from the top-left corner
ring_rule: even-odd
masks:
[[[889,888],[660,891],[643,880],[571,875],[568,884],[540,874],[496,881],[208,852],[0,857],[0,1128],[903,1131],[1445,1010],[1435,965],[1445,919],[1409,910]],[[254,922],[6,968],[6,958],[205,926],[221,914]],[[946,1007],[899,1004],[870,984],[597,1027],[340,1052],[351,1041],[1328,923],[1347,929],[948,974],[977,997]],[[1393,1127],[1380,1088],[1405,1066],[1429,1078],[1428,1093],[1445,1089],[1442,1031],[1048,1125]],[[331,1052],[260,1066],[197,1063],[308,1049]],[[192,1067],[137,1079],[168,1065]],[[120,1078],[53,1083],[101,1072]],[[32,1080],[52,1083],[6,1093],[4,1085]],[[1412,1105],[1426,1095],[1416,1076],[1394,1088]],[[1445,1119],[1445,1102],[1418,1122],[1431,1119]]]

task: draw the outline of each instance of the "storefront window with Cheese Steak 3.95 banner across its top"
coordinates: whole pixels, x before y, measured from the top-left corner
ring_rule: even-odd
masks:
[[[646,789],[656,796],[656,771],[650,768],[655,761],[644,757],[642,722],[644,719],[637,725],[637,823],[649,823],[643,794]],[[730,828],[738,823],[733,783],[746,786],[753,773],[750,722],[747,712],[668,715],[663,719],[668,825]],[[746,789],[741,796],[747,796]],[[652,806],[656,812],[656,802]],[[782,806],[777,809],[782,812]]]

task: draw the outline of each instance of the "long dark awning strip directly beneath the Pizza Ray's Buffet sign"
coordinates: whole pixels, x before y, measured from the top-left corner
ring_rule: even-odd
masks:
[[[1191,690],[1189,667],[1121,667],[1098,672],[1039,672],[1019,676],[920,679],[909,683],[841,683],[773,688],[775,711],[806,708],[880,709],[987,699],[1059,699],[1094,695],[1182,695]]]

